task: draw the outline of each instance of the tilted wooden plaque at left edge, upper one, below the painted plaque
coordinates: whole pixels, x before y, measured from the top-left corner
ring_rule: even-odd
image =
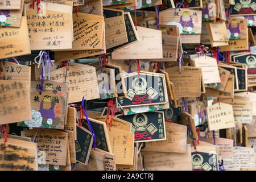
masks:
[[[31,53],[26,16],[22,16],[19,28],[0,26],[0,35],[0,59]]]

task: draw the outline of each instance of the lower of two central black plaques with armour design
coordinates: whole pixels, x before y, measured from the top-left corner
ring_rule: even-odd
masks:
[[[115,117],[133,123],[131,132],[135,142],[166,140],[163,111],[151,111],[134,115],[116,115]]]

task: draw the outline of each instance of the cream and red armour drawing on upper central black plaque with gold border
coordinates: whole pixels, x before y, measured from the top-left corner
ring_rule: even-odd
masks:
[[[148,96],[150,96],[151,98],[154,98],[155,96],[158,95],[158,93],[156,92],[156,90],[152,87],[147,89],[147,80],[143,77],[138,77],[138,78],[134,78],[133,82],[131,83],[131,85],[133,86],[133,89],[128,89],[127,92],[127,98],[129,98],[129,100],[131,101],[139,101],[139,102],[148,102]],[[139,96],[143,96],[143,97],[139,97]],[[135,104],[135,102],[134,102]]]

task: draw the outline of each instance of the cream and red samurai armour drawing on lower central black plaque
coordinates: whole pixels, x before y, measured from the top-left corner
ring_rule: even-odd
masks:
[[[148,124],[146,114],[135,114],[131,131],[135,134],[135,140],[151,139],[152,135],[158,131],[153,123]]]

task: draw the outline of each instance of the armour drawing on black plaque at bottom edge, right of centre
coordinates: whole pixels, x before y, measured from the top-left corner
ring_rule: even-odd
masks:
[[[212,167],[209,163],[205,162],[204,158],[201,154],[194,154],[192,155],[192,168],[193,171],[210,171]]]

